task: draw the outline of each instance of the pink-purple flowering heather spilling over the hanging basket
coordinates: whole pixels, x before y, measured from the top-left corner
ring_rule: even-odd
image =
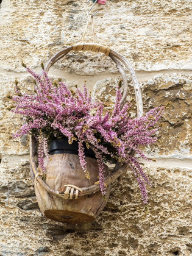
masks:
[[[66,137],[68,143],[74,140],[79,145],[79,161],[87,179],[84,144],[91,148],[98,161],[99,184],[101,193],[105,195],[104,162],[127,163],[135,174],[140,186],[144,204],[148,202],[146,185],[151,182],[144,174],[138,157],[147,158],[138,148],[139,145],[149,145],[157,138],[154,136],[155,127],[162,116],[163,107],[150,110],[140,118],[130,118],[130,102],[121,109],[121,89],[116,88],[115,107],[110,114],[103,115],[104,103],[94,102],[87,88],[70,90],[65,83],[51,82],[48,74],[43,70],[41,76],[29,68],[27,71],[35,79],[35,94],[23,94],[16,80],[15,109],[13,112],[24,116],[26,123],[18,130],[14,137],[29,133],[38,138],[38,163],[44,173],[44,157],[48,155],[48,143],[54,138]],[[119,83],[121,84],[121,83]],[[38,86],[37,86],[38,85]],[[130,155],[134,150],[137,157]]]

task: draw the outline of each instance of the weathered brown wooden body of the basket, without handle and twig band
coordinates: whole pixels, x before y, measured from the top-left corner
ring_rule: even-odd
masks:
[[[71,184],[76,187],[90,187],[98,179],[98,163],[95,159],[86,157],[87,169],[90,172],[90,180],[87,180],[82,170],[78,155],[55,154],[44,160],[46,166],[45,183],[51,190],[58,191],[63,185]],[[108,168],[105,166],[105,176],[108,175]],[[74,194],[76,190],[74,190]],[[79,224],[93,221],[107,204],[110,193],[110,185],[106,188],[106,200],[100,191],[91,195],[84,195],[78,199],[63,199],[55,196],[36,180],[35,194],[41,212],[48,218],[55,221],[70,224]]]

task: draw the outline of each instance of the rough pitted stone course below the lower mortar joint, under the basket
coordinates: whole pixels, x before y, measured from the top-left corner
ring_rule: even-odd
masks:
[[[190,256],[191,169],[155,165],[145,167],[154,184],[148,188],[147,210],[128,171],[121,183],[113,183],[98,220],[75,226],[41,216],[30,187],[29,163],[1,168],[1,254]]]

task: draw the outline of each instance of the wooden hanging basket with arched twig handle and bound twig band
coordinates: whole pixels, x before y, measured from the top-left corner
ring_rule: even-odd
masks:
[[[99,44],[76,44],[65,48],[49,60],[45,66],[45,71],[48,72],[49,68],[55,62],[62,59],[70,51],[102,52],[116,63],[123,79],[124,91],[121,108],[125,104],[128,94],[127,76],[121,65],[123,63],[132,77],[135,88],[137,115],[139,117],[143,115],[141,90],[132,65],[123,55],[118,54],[118,52],[111,50],[107,46]],[[57,151],[58,148],[55,150]],[[106,198],[104,200],[98,182],[98,163],[96,159],[91,157],[91,155],[86,156],[87,169],[91,177],[88,183],[84,171],[82,171],[80,166],[79,156],[74,153],[77,150],[73,149],[73,153],[71,154],[71,149],[66,144],[62,147],[62,150],[57,152],[59,154],[52,155],[51,161],[47,158],[44,159],[46,179],[43,181],[35,163],[35,154],[37,154],[36,140],[33,136],[30,136],[30,174],[32,180],[34,180],[35,194],[40,210],[47,218],[68,224],[94,221],[107,204],[110,183],[118,177],[124,176],[127,171],[127,163],[122,165],[117,162],[110,174],[107,166],[105,166],[105,185],[107,188]],[[134,155],[135,152],[131,151],[130,154]]]

